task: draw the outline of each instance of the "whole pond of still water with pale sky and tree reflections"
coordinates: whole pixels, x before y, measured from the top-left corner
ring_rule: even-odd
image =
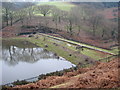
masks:
[[[2,84],[74,66],[64,58],[29,42],[3,42]]]

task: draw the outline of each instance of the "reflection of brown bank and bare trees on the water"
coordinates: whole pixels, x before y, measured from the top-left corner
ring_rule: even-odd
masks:
[[[52,52],[31,43],[16,43],[6,43],[3,41],[2,60],[8,65],[14,66],[19,62],[35,63],[40,59],[55,58]]]

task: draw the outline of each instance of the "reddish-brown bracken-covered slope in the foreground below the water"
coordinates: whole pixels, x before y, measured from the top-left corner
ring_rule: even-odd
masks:
[[[64,73],[63,76],[49,76],[35,83],[18,85],[11,89],[21,88],[118,88],[120,87],[118,64],[119,58],[110,62],[98,62],[96,65],[80,68],[77,71]]]

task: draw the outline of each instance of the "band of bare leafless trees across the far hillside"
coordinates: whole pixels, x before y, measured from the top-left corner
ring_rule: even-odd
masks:
[[[70,34],[74,34],[74,29],[77,29],[77,35],[80,35],[83,26],[89,28],[89,32],[93,36],[100,34],[101,38],[112,37],[117,38],[117,22],[106,19],[103,16],[102,9],[96,8],[93,5],[80,4],[71,8],[70,11],[64,11],[56,6],[52,5],[35,5],[33,3],[26,3],[22,9],[14,9],[13,3],[3,3],[2,9],[2,20],[3,27],[8,25],[13,25],[13,21],[20,21],[24,25],[24,20],[31,20],[34,16],[34,12],[39,12],[44,18],[47,25],[46,18],[50,16],[52,21],[55,23],[55,28],[58,29],[58,25],[61,21],[66,24],[64,27],[66,31]],[[41,17],[40,17],[41,18]]]

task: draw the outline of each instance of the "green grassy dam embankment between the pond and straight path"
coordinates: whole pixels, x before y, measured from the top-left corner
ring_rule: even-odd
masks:
[[[70,62],[74,64],[78,64],[79,62],[85,63],[84,60],[85,58],[83,55],[90,57],[94,60],[99,60],[101,58],[108,57],[110,55],[104,55],[104,53],[99,53],[91,49],[84,48],[83,51],[77,52],[75,45],[69,44],[67,42],[55,40],[49,37],[46,37],[46,40],[44,40],[44,37],[42,35],[39,35],[38,39],[35,39],[35,37],[27,38],[27,37],[17,37],[13,38],[15,40],[27,40],[30,41],[37,46],[40,46],[42,48],[45,48],[45,44],[48,45],[47,49],[48,51],[52,51],[54,53],[57,53],[58,56],[62,56],[63,58],[69,60]],[[56,43],[54,45],[53,43]],[[63,48],[64,47],[64,48]],[[75,53],[77,52],[77,53]],[[72,54],[72,56],[70,56]],[[80,54],[80,55],[79,55]]]

